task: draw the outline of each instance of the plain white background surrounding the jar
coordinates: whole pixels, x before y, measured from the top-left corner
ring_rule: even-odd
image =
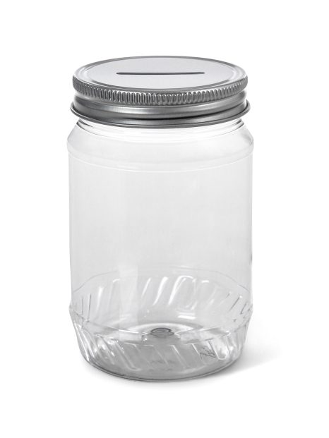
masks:
[[[1,10],[1,436],[328,437],[325,1],[7,1]],[[249,75],[254,314],[212,377],[142,383],[80,355],[68,315],[71,75],[138,55]]]

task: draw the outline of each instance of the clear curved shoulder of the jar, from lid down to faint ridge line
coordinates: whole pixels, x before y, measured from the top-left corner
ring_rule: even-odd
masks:
[[[213,126],[140,129],[78,121],[68,151],[83,162],[131,171],[193,171],[251,154],[253,138],[239,120]]]

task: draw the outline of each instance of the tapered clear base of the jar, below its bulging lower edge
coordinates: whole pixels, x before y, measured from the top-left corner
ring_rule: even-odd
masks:
[[[241,354],[247,327],[248,323],[225,336],[188,344],[171,340],[136,344],[100,335],[92,340],[75,324],[80,351],[90,365],[117,377],[145,381],[191,379],[232,365]]]

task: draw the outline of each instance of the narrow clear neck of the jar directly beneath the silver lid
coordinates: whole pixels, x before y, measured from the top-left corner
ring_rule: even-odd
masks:
[[[161,138],[162,142],[197,140],[198,138],[211,138],[225,135],[244,126],[241,118],[225,123],[217,123],[208,126],[193,126],[189,128],[126,128],[112,125],[104,125],[79,118],[77,126],[93,135],[122,139],[137,142],[154,142]]]

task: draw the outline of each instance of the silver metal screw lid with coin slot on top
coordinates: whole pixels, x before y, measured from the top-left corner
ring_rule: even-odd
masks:
[[[221,123],[249,111],[247,76],[233,64],[188,56],[137,56],[80,67],[71,109],[116,126],[174,128]]]

